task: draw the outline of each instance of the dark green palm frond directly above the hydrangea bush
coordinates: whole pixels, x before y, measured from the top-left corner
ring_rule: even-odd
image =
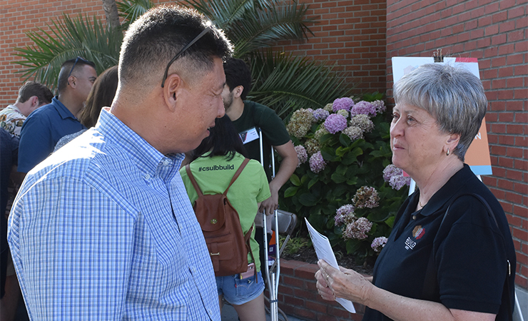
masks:
[[[325,63],[270,50],[253,54],[255,84],[249,95],[282,118],[298,108],[323,108],[335,98],[350,96],[352,89],[343,86],[345,78]]]

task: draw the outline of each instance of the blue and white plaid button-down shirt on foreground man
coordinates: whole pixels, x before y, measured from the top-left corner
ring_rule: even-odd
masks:
[[[182,160],[103,110],[30,171],[8,241],[32,320],[220,320]]]

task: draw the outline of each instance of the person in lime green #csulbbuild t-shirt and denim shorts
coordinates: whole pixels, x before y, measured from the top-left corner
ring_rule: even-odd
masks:
[[[193,151],[194,159],[190,165],[191,173],[203,194],[223,193],[244,161],[245,154],[242,141],[228,116],[216,118],[215,127],[210,128],[210,136]],[[181,168],[180,174],[191,204],[194,204],[198,193],[185,168]],[[249,161],[229,188],[227,197],[238,213],[243,233],[248,233],[260,203],[270,197],[268,180],[258,161]],[[250,247],[254,255],[259,252],[255,230],[250,238]],[[241,321],[264,321],[264,282],[260,272],[260,262],[259,260],[253,262],[253,258],[248,254],[248,263],[255,265],[258,272],[256,278],[253,272],[216,277],[220,310],[222,300],[225,298],[235,307]]]

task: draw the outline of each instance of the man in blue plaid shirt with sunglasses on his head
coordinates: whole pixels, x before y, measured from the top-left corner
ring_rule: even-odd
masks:
[[[231,54],[223,32],[190,9],[159,6],[131,24],[112,106],[26,176],[11,210],[30,318],[220,320],[178,170],[225,113]]]

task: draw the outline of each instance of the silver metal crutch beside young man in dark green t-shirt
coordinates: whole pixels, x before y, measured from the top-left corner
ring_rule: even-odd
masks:
[[[263,148],[263,135],[260,128],[258,128],[258,136],[260,142],[260,163],[264,165],[264,148]],[[271,179],[275,177],[275,153],[273,146],[271,147]],[[280,255],[277,249],[275,254],[275,263],[273,266],[276,268],[276,273],[273,272],[273,268],[270,269],[268,264],[268,228],[266,223],[266,215],[263,213],[263,234],[264,234],[264,252],[265,252],[265,277],[268,283],[268,292],[270,293],[270,316],[271,321],[278,321],[278,290],[279,290],[279,275],[280,275]],[[273,213],[273,219],[275,220],[275,246],[279,246],[279,233],[278,233],[278,215],[277,210]]]

